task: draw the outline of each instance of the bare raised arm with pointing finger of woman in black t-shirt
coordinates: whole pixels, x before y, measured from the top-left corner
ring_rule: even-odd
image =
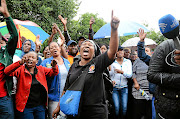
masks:
[[[113,60],[115,58],[115,54],[118,49],[119,45],[119,37],[118,37],[118,27],[119,27],[120,20],[117,17],[113,16],[112,11],[112,19],[111,19],[111,38],[109,42],[109,49],[108,49],[108,57],[109,59]]]

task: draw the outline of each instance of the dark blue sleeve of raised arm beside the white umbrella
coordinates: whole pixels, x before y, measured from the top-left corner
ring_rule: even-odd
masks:
[[[144,42],[139,41],[137,44],[137,48],[139,59],[149,65],[151,57],[145,53]]]

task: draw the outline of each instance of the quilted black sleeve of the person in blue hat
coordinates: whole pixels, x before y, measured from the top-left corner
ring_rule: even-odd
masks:
[[[164,87],[180,89],[180,74],[165,72],[167,68],[170,68],[165,62],[167,48],[165,44],[156,48],[149,65],[148,80]]]

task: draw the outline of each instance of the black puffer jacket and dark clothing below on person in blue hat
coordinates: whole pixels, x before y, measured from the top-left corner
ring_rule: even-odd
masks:
[[[148,70],[148,80],[157,84],[156,111],[168,119],[180,117],[180,67],[170,66],[175,61],[173,53],[169,53],[174,49],[173,40],[162,42],[151,57]]]

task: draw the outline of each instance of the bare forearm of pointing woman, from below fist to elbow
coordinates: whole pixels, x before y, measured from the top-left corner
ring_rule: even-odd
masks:
[[[109,42],[109,50],[108,50],[108,57],[109,59],[113,60],[115,58],[115,54],[117,52],[119,45],[119,37],[117,30],[111,30],[111,38]]]

